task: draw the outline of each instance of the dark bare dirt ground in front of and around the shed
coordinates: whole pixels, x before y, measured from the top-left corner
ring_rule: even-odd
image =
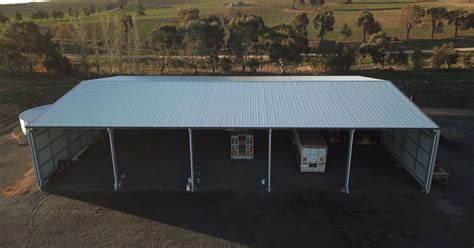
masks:
[[[401,168],[366,165],[362,159],[355,159],[349,195],[338,190],[342,182],[337,180],[343,179],[340,172],[330,171],[329,178],[335,175],[336,180],[328,179],[334,184],[323,189],[279,191],[275,186],[270,194],[232,190],[190,194],[184,193],[181,185],[179,190],[128,189],[116,193],[112,191],[110,161],[103,161],[108,163],[104,167],[109,172],[103,176],[104,182],[96,185],[109,190],[50,188],[30,192],[31,188],[23,185],[34,182],[28,181],[32,166],[28,147],[18,146],[11,135],[3,135],[0,246],[471,247],[474,118],[436,116],[435,120],[442,126],[462,128],[468,139],[461,143],[441,141],[438,159],[451,176],[446,186],[433,183],[430,195],[421,192],[408,173],[399,171]],[[278,143],[278,138],[274,142]],[[105,153],[107,146],[103,149]],[[275,149],[280,148],[277,145]],[[203,155],[197,158],[203,159]],[[65,172],[65,177],[74,170]],[[274,184],[278,181],[283,183],[275,179]],[[60,179],[55,184],[66,186]],[[228,185],[232,188],[233,184]],[[140,182],[135,186],[140,187]],[[12,190],[19,187],[26,190]]]

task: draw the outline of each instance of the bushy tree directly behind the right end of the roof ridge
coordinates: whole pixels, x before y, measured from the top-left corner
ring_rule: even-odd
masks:
[[[372,34],[367,41],[360,46],[361,54],[369,54],[376,64],[384,67],[386,58],[385,55],[390,51],[391,38],[383,31]]]

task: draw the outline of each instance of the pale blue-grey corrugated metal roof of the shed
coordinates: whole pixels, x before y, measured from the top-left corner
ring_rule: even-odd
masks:
[[[359,76],[88,80],[30,127],[438,128],[391,82]]]

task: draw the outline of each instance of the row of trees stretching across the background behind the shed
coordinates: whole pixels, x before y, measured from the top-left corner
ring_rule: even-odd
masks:
[[[411,23],[404,24],[407,38],[408,27],[418,25],[417,18],[427,15],[417,9],[416,5],[409,5],[403,10],[407,13],[401,18]],[[244,15],[235,8],[227,9],[224,17],[205,18],[200,16],[199,9],[183,8],[177,13],[177,22],[155,26],[145,41],[138,35],[138,14],[119,16],[102,12],[98,24],[87,23],[86,18],[80,15],[70,23],[59,23],[46,34],[41,34],[32,22],[7,23],[0,39],[2,67],[11,72],[33,71],[41,65],[54,73],[70,73],[71,65],[65,56],[66,40],[74,41],[78,59],[73,59],[77,69],[87,74],[139,74],[144,67],[155,68],[160,74],[172,73],[176,68],[191,69],[194,73],[199,70],[229,73],[234,68],[256,72],[271,67],[283,74],[305,66],[326,73],[363,68],[367,64],[411,70],[426,65],[449,68],[458,62],[471,66],[471,55],[460,56],[452,44],[436,47],[429,60],[420,50],[408,54],[397,49],[393,38],[369,11],[361,12],[356,20],[363,32],[361,44],[344,41],[352,35],[347,24],[339,31],[342,40],[326,39],[326,34],[334,31],[335,17],[324,6],[318,7],[312,17],[297,13],[290,23],[271,27],[261,16]],[[458,23],[459,27],[472,25],[465,20]],[[310,28],[319,38],[316,46],[308,43]]]

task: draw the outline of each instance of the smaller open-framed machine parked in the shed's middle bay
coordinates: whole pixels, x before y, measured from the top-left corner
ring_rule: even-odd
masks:
[[[234,131],[230,138],[232,159],[253,159],[253,135],[248,130]]]

